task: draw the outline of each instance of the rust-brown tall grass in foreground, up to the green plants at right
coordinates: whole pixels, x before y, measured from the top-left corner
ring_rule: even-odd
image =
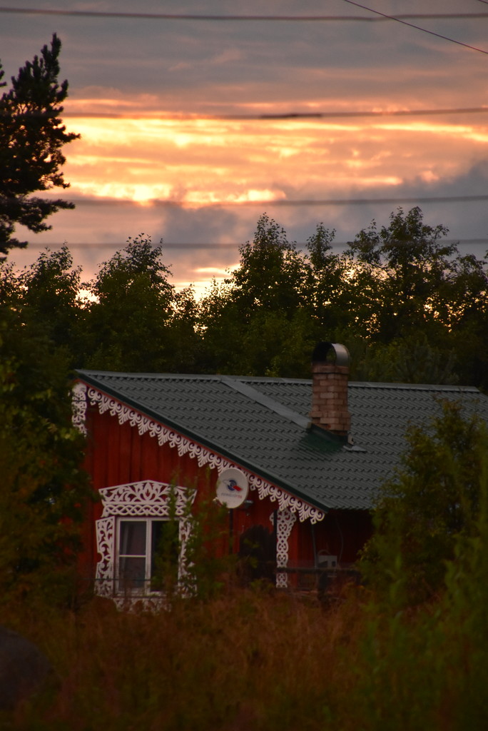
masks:
[[[118,613],[94,600],[76,614],[10,618],[39,643],[57,677],[12,728],[327,727],[346,702],[355,613],[324,616],[318,603],[232,589],[156,615]]]

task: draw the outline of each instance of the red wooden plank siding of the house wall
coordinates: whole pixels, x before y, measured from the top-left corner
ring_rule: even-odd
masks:
[[[122,485],[139,480],[175,482],[187,488],[197,489],[195,509],[207,498],[212,499],[216,487],[217,470],[199,467],[196,459],[188,454],[178,455],[168,443],[159,446],[150,434],[140,435],[128,422],[120,425],[118,418],[109,412],[100,414],[91,406],[87,410],[88,449],[85,469],[92,476],[93,488]],[[257,491],[248,495],[252,504],[232,511],[229,520],[229,550],[239,551],[240,537],[252,526],[261,525],[267,531],[274,529],[273,516],[278,504],[269,498],[259,500]],[[102,514],[102,501],[94,502],[85,525],[85,553],[80,561],[83,575],[94,575],[98,561],[96,551],[95,521]],[[231,527],[232,526],[232,527]],[[342,563],[350,564],[370,536],[370,516],[362,511],[331,511],[324,520],[310,524],[309,520],[295,521],[289,536],[289,566],[313,567],[319,551],[338,556]],[[220,550],[227,550],[222,543]],[[296,583],[291,580],[291,584]]]

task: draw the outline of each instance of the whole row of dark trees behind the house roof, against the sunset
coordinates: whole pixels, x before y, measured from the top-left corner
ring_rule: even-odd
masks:
[[[163,246],[144,234],[83,285],[85,303],[66,246],[20,274],[4,268],[4,291],[75,367],[307,378],[326,333],[351,352],[351,379],[488,388],[487,262],[445,233],[398,209],[344,253],[322,223],[301,251],[264,214],[237,268],[199,301],[175,290]]]

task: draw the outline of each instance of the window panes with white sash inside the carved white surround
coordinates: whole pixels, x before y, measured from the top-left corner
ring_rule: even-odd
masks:
[[[178,521],[118,519],[117,592],[150,594],[178,580]]]

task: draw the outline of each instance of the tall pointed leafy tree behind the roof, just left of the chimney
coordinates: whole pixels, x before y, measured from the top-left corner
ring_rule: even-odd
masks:
[[[200,303],[204,372],[308,376],[319,338],[310,286],[305,257],[261,216],[253,241],[240,247],[240,265]]]

